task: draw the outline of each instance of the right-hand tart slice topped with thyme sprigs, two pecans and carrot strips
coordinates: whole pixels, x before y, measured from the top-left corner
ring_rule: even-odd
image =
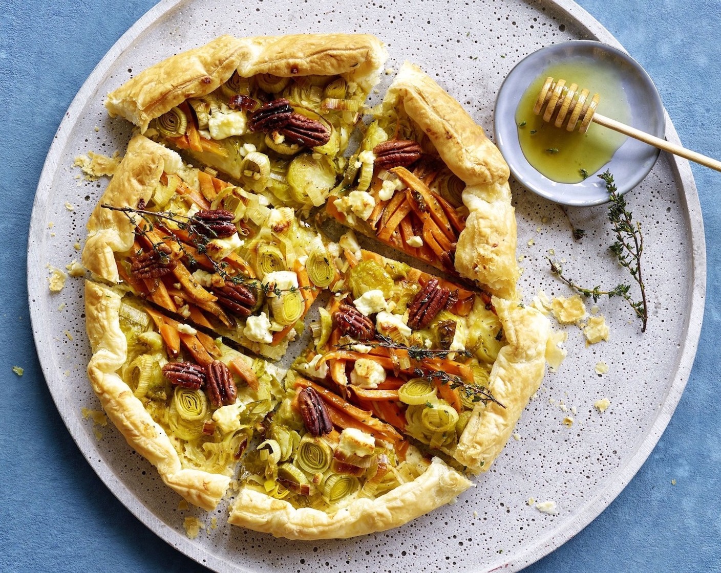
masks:
[[[367,251],[347,279],[296,370],[339,412],[338,401],[372,413],[431,454],[487,471],[544,376],[547,319]]]

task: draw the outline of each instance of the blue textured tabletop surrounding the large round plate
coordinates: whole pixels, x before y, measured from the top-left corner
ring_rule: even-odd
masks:
[[[154,2],[1,4],[0,571],[205,571],[125,510],[81,456],[45,386],[27,308],[27,229],[45,154],[92,68]],[[721,158],[720,2],[579,4],[647,69],[682,143]],[[530,572],[721,571],[721,174],[693,171],[709,292],[686,391],[624,492]]]

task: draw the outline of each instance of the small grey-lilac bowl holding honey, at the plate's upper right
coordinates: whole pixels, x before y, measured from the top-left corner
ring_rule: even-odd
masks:
[[[603,181],[592,175],[578,183],[558,183],[536,171],[526,161],[518,143],[516,108],[523,93],[541,71],[555,63],[577,58],[593,58],[599,66],[611,66],[618,74],[631,108],[631,125],[634,128],[663,138],[665,116],[663,104],[648,74],[627,53],[593,40],[572,40],[541,48],[523,58],[514,67],[500,87],[495,102],[494,133],[498,148],[510,172],[518,182],[541,197],[576,207],[600,205],[609,200]],[[570,80],[570,78],[567,78]],[[556,128],[554,128],[556,129]],[[589,129],[606,129],[591,125]],[[628,138],[611,161],[598,172],[608,169],[613,174],[620,194],[632,190],[653,168],[660,151],[646,143]]]

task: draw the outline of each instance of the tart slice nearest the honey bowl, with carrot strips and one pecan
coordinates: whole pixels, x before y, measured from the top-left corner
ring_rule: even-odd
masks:
[[[441,86],[404,64],[327,213],[503,298],[516,297],[508,166]]]

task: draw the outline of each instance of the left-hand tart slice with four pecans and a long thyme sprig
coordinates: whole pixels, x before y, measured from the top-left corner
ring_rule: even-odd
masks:
[[[143,136],[88,228],[83,264],[97,277],[267,357],[285,353],[337,275],[327,241],[293,210],[185,166]]]

